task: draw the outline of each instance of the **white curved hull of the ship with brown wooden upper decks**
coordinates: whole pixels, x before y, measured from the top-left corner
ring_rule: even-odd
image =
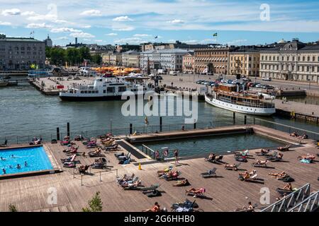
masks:
[[[270,116],[276,112],[276,108],[247,107],[247,106],[242,106],[242,105],[235,105],[232,103],[223,102],[223,101],[211,98],[211,97],[207,97],[206,95],[205,95],[205,101],[209,105],[213,105],[215,107],[220,107],[220,108],[232,111],[232,112],[239,112],[242,114]]]

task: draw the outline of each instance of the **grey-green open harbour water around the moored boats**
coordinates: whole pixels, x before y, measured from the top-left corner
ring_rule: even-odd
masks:
[[[14,78],[13,78],[14,80]],[[73,133],[81,131],[109,131],[125,128],[128,131],[130,123],[142,128],[145,125],[144,116],[123,116],[121,107],[123,101],[102,102],[63,102],[57,96],[45,96],[28,83],[18,86],[0,88],[0,114],[1,130],[0,139],[14,136],[44,136],[52,134],[56,136],[56,128],[60,127],[65,134],[67,122],[71,125]],[[303,120],[291,120],[281,117],[265,117],[268,121],[274,121],[300,129],[318,132],[319,127],[315,123]],[[243,124],[244,115],[236,114],[236,122]],[[252,120],[252,117],[248,117]],[[159,117],[148,117],[150,128],[159,125]],[[169,130],[180,129],[184,124],[184,117],[162,117],[162,124]],[[233,124],[233,112],[212,107],[206,102],[198,102],[198,124],[206,126],[227,126]],[[146,128],[149,131],[150,128]],[[155,129],[154,129],[155,130]],[[2,141],[0,140],[0,143]]]

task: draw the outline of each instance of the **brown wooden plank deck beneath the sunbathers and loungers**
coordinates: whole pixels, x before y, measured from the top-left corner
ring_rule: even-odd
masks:
[[[265,133],[276,134],[278,131],[272,129],[264,129]],[[278,133],[279,134],[279,133]],[[280,132],[282,136],[289,135]],[[62,150],[65,148],[60,144],[46,144],[50,148],[55,158],[60,162],[60,158],[65,157]],[[79,143],[79,151],[86,153],[89,149]],[[121,152],[119,150],[117,153]],[[251,151],[253,153],[254,150]],[[181,171],[181,177],[189,179],[191,186],[174,187],[174,182],[166,182],[158,179],[156,172],[159,169],[164,169],[169,165],[174,165],[174,162],[155,163],[142,165],[142,170],[138,170],[138,166],[134,164],[118,165],[113,152],[106,153],[106,158],[110,162],[110,169],[118,169],[118,174],[135,173],[145,186],[151,184],[160,184],[159,190],[164,191],[161,197],[147,198],[140,191],[123,191],[116,184],[116,171],[101,173],[101,182],[99,169],[92,169],[91,175],[83,177],[83,186],[81,186],[81,176],[73,176],[73,169],[65,169],[59,174],[50,174],[35,177],[25,177],[19,179],[5,179],[0,181],[0,211],[7,211],[9,204],[14,204],[19,211],[81,211],[87,206],[87,201],[94,196],[96,191],[101,192],[104,211],[140,211],[150,208],[155,201],[158,201],[162,207],[169,208],[172,203],[184,201],[185,198],[194,200],[191,196],[185,196],[185,189],[191,187],[206,188],[207,199],[196,198],[199,207],[204,211],[233,211],[235,208],[240,208],[242,205],[247,205],[248,201],[258,203],[262,194],[259,193],[263,187],[269,188],[271,203],[278,197],[275,189],[284,186],[284,182],[269,177],[269,172],[285,171],[293,177],[296,182],[293,182],[293,187],[300,187],[303,184],[310,183],[311,190],[319,190],[319,162],[312,164],[304,164],[297,160],[299,155],[306,153],[316,154],[318,149],[313,143],[306,143],[298,148],[293,148],[291,151],[284,153],[285,162],[269,163],[269,168],[255,168],[260,179],[264,179],[264,184],[240,182],[238,172],[228,171],[223,165],[215,165],[205,162],[203,158],[181,160],[180,165],[176,169]],[[254,158],[263,159],[263,157]],[[82,165],[91,164],[94,159],[90,157],[78,156]],[[235,163],[233,155],[225,155],[225,162]],[[317,159],[318,160],[318,159]],[[138,161],[138,160],[137,160]],[[242,163],[240,169],[253,169],[252,161]],[[203,179],[200,177],[201,172],[206,172],[213,167],[217,168],[218,178]],[[50,195],[50,188],[57,191],[57,204],[47,203],[47,198]],[[49,192],[49,193],[48,193]],[[212,199],[211,199],[212,198]]]

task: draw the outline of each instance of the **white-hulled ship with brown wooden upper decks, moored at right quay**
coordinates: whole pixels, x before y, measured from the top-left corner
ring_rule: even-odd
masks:
[[[215,107],[261,116],[269,116],[276,112],[273,99],[274,97],[269,98],[269,95],[240,91],[240,86],[235,84],[220,84],[213,88],[211,94],[205,95],[205,101]]]

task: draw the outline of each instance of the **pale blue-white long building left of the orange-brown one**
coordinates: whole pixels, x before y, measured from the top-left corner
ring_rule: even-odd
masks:
[[[149,50],[140,53],[140,68],[167,69],[168,71],[181,71],[183,68],[183,56],[189,51],[185,49]]]

